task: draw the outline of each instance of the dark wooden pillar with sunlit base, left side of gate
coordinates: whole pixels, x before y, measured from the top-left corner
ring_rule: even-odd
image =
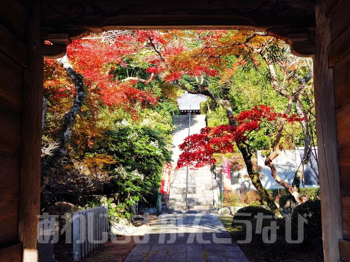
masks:
[[[19,198],[19,240],[23,262],[37,262],[37,223],[40,214],[41,122],[43,57],[41,56],[40,6],[33,3],[26,21],[29,66],[24,73]]]

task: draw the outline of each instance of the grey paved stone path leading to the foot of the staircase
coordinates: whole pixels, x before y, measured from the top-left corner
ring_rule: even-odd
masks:
[[[162,214],[124,262],[249,262],[215,214]]]

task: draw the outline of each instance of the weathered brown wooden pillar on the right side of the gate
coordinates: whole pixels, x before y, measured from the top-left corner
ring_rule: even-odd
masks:
[[[315,111],[324,261],[337,262],[343,233],[333,69],[328,66],[327,50],[332,43],[331,19],[326,16],[326,0],[316,0],[315,18]]]

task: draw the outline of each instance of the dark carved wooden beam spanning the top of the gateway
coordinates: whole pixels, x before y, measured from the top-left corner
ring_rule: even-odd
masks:
[[[315,54],[313,0],[45,0],[41,6],[44,35],[69,33],[70,38],[72,35],[79,38],[82,33],[78,30],[84,29],[91,32],[124,29],[269,30],[285,39],[288,39],[288,33],[292,33],[293,40],[289,43],[292,48],[295,44],[295,53],[302,56]],[[308,33],[307,38],[295,38],[296,34],[305,33]]]

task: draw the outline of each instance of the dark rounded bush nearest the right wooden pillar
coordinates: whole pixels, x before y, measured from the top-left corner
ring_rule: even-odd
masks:
[[[298,214],[311,214],[311,217],[306,216],[308,224],[304,224],[304,241],[303,244],[310,244],[312,240],[322,237],[322,222],[321,222],[321,201],[309,200],[303,204],[296,206],[292,214],[292,233],[297,238],[297,221]]]

